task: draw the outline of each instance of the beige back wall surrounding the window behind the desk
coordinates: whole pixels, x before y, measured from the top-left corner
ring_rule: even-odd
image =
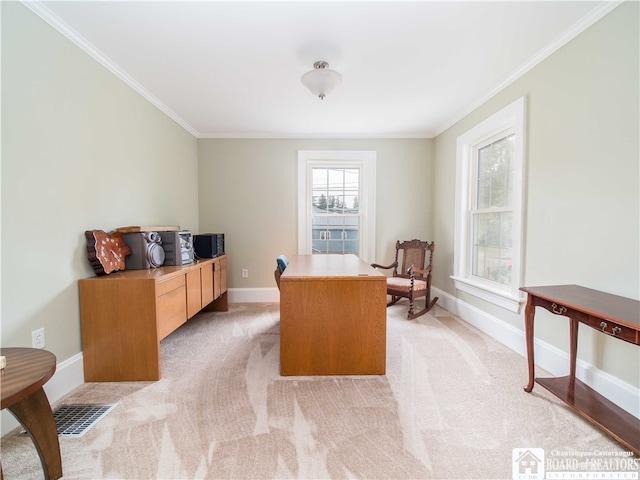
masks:
[[[375,150],[376,260],[396,240],[431,239],[432,140],[200,140],[200,230],[224,233],[232,288],[275,287],[278,254],[298,251],[298,150]],[[249,269],[249,278],[240,270]]]

